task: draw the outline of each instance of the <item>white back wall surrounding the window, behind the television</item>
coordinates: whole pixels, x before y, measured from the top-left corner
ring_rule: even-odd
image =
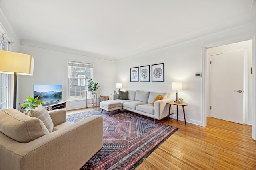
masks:
[[[94,81],[98,82],[99,96],[108,96],[115,88],[115,62],[77,55],[63,51],[56,51],[28,45],[21,45],[21,53],[31,54],[34,57],[34,75],[18,75],[17,103],[22,99],[33,96],[35,84],[62,84],[62,101],[68,100],[68,61],[93,63]],[[86,107],[85,100],[67,102],[67,110]]]

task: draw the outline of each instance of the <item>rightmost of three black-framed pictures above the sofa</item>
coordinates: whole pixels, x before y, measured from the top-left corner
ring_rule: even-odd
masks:
[[[164,82],[164,63],[151,65],[151,81]]]

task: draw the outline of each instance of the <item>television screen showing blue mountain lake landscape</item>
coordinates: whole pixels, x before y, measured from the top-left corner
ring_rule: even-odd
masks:
[[[34,98],[43,102],[53,102],[61,100],[62,85],[34,85]]]

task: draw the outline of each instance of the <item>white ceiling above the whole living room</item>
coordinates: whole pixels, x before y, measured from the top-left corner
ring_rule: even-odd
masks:
[[[0,0],[21,44],[118,61],[256,21],[255,0]]]

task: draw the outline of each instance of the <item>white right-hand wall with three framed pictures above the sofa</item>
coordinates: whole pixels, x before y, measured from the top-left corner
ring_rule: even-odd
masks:
[[[158,51],[146,53],[130,59],[116,62],[116,82],[122,82],[122,90],[150,90],[154,92],[168,92],[172,100],[176,98],[175,90],[171,90],[171,82],[183,82],[183,90],[178,93],[188,103],[185,107],[186,121],[203,125],[202,112],[204,110],[203,78],[194,77],[194,73],[203,73],[205,46],[214,47],[215,44],[228,44],[252,39],[256,35],[256,23],[250,23],[214,35],[201,37],[172,45]],[[164,63],[165,82],[130,82],[130,68]],[[150,67],[151,69],[151,67]],[[205,76],[205,75],[203,75]],[[151,81],[151,71],[150,71]],[[180,107],[179,113],[182,113]],[[255,114],[255,113],[253,113]],[[176,115],[176,113],[175,113]],[[179,119],[184,120],[183,114]]]

